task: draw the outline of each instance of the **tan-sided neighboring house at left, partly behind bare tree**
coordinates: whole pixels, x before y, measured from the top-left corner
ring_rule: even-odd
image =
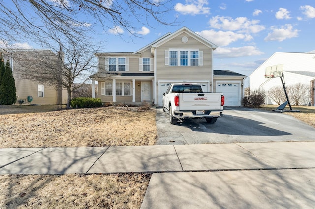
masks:
[[[19,60],[20,57],[23,59],[22,57],[25,56],[56,55],[51,50],[44,49],[19,49],[14,50],[13,54],[14,55],[8,55],[3,53],[3,58],[5,63],[9,60],[12,68],[17,96],[16,105],[20,105],[20,100],[23,100],[24,104],[59,104],[62,97],[61,91],[57,91],[53,87],[45,85],[44,83],[34,82],[19,76],[22,71],[21,65],[24,67],[25,65],[28,65],[28,62]],[[31,103],[27,103],[28,96],[32,96],[33,100]]]

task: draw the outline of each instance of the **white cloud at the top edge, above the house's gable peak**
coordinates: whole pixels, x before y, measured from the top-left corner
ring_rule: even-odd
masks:
[[[186,4],[177,3],[174,9],[184,15],[210,14],[207,0],[186,0]]]

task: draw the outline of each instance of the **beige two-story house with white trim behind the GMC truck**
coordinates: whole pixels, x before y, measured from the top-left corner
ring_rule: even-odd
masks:
[[[246,76],[214,71],[216,48],[183,27],[136,52],[97,53],[92,92],[98,81],[98,97],[104,102],[162,106],[163,93],[171,83],[200,83],[205,92],[226,94],[226,105],[241,106]]]

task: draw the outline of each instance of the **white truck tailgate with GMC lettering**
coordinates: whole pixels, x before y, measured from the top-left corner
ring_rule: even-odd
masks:
[[[180,93],[180,110],[220,110],[221,93]]]

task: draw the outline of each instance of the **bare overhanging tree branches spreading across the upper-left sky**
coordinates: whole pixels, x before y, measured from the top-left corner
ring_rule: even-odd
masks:
[[[36,40],[51,47],[60,40],[95,42],[90,34],[120,28],[137,35],[135,22],[171,24],[164,15],[173,7],[164,0],[5,0],[0,1],[0,41]],[[150,21],[149,21],[150,20]],[[174,23],[174,22],[173,22]],[[55,46],[56,47],[56,46]],[[53,47],[53,48],[55,48]]]

